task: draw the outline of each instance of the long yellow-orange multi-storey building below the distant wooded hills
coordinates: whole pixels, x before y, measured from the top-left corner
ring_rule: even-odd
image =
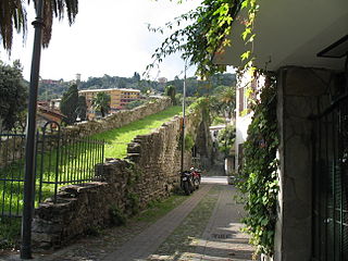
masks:
[[[87,102],[87,116],[88,119],[94,119],[95,111],[91,107],[91,102],[94,97],[97,96],[98,92],[105,92],[110,95],[111,102],[110,109],[111,113],[117,110],[125,109],[125,105],[132,101],[136,101],[140,99],[140,90],[138,89],[88,89],[88,90],[79,90],[78,95],[84,96]]]

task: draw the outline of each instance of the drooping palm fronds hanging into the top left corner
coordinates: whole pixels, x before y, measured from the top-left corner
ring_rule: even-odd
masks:
[[[28,5],[37,0],[28,0]],[[0,1],[0,38],[5,50],[11,51],[13,30],[26,34],[27,18],[26,8],[23,0],[1,0]],[[44,39],[42,45],[47,47],[52,34],[53,16],[62,20],[67,14],[70,25],[74,23],[78,12],[78,0],[44,0]]]

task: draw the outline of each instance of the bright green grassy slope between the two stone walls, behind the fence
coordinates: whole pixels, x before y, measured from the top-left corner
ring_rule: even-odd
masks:
[[[160,127],[163,123],[173,119],[181,112],[181,107],[171,107],[160,113],[147,116],[137,122],[130,123],[121,128],[115,128],[105,133],[94,135],[92,139],[104,139],[105,158],[124,158],[126,156],[127,144],[137,135],[146,135]],[[75,145],[61,145],[60,158],[57,158],[57,149],[47,149],[45,153],[37,156],[37,191],[42,192],[41,200],[52,197],[54,194],[54,183],[79,179],[90,179],[94,177],[94,165],[99,162],[88,160],[92,153],[99,151],[92,146],[85,147]],[[44,157],[44,159],[42,159]],[[42,159],[42,160],[41,160]],[[59,178],[55,179],[55,165],[59,161]],[[40,188],[40,178],[44,183]],[[7,179],[7,181],[1,181]],[[13,179],[13,181],[9,181]],[[66,183],[65,185],[67,185]],[[62,186],[61,184],[59,186]],[[24,186],[24,160],[14,161],[0,169],[0,216],[20,215],[23,209],[23,186]],[[35,204],[38,206],[39,197],[36,195]]]

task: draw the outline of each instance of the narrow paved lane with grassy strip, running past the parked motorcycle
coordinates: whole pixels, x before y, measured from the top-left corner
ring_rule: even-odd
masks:
[[[243,206],[226,177],[208,176],[201,188],[150,226],[136,224],[133,233],[82,239],[38,261],[250,261],[253,247],[240,232]],[[110,239],[109,239],[110,238]],[[116,240],[114,240],[116,238]],[[20,260],[8,257],[0,261]]]

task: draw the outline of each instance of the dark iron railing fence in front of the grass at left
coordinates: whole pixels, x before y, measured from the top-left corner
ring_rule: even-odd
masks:
[[[0,134],[0,217],[22,216],[25,167],[25,135]],[[36,135],[35,204],[52,198],[59,188],[100,179],[95,166],[104,160],[104,141],[61,134],[47,124]]]

